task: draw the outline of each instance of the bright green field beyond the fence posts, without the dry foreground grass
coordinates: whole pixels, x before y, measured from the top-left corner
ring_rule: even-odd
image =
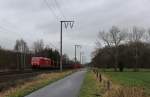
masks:
[[[150,94],[150,72],[105,72],[114,83],[128,87],[140,87]]]

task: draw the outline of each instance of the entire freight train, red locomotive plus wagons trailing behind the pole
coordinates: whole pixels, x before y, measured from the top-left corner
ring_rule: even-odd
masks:
[[[42,68],[52,68],[57,69],[59,68],[59,65],[56,64],[56,62],[50,58],[45,57],[32,57],[31,59],[31,65],[33,69],[42,69]],[[71,68],[71,69],[78,69],[81,68],[81,64],[69,64],[63,66],[64,68]]]

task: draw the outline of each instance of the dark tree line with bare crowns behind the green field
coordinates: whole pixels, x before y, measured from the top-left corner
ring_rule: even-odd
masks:
[[[99,68],[150,68],[150,30],[142,27],[120,29],[113,26],[100,31],[96,49],[92,53],[92,64]]]

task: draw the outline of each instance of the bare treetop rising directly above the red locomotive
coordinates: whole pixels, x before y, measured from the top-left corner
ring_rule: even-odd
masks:
[[[44,49],[44,42],[43,40],[37,40],[33,43],[33,49],[35,53],[38,53]]]

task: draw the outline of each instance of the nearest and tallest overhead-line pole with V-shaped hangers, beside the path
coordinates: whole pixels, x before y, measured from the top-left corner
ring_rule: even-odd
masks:
[[[70,25],[70,28],[73,28],[74,21],[60,21],[60,71],[62,71],[62,31],[63,31],[63,23],[65,24],[65,28],[67,29]]]

